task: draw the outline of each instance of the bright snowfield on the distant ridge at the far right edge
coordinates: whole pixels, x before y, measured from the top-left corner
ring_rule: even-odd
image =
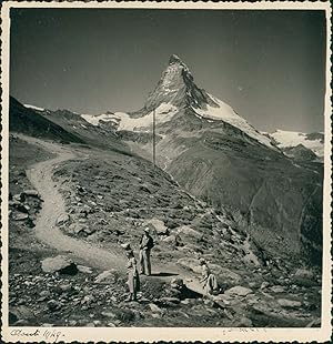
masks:
[[[324,156],[324,133],[303,133],[296,131],[276,130],[270,134],[276,142],[279,148],[291,148],[303,144],[312,150],[317,156]]]

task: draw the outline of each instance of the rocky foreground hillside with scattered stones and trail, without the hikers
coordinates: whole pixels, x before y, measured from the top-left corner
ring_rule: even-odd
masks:
[[[69,160],[57,160],[69,151]],[[46,166],[50,191],[41,192],[32,175]],[[135,155],[12,134],[10,192],[12,325],[320,326],[319,270],[271,256],[230,213]],[[42,227],[42,210],[58,193],[63,212],[54,209],[52,226]],[[139,303],[127,303],[120,243],[131,242],[138,257],[145,224],[155,242],[153,275],[141,277]],[[68,251],[62,239],[83,250]],[[199,257],[220,282],[208,299],[198,286]]]

